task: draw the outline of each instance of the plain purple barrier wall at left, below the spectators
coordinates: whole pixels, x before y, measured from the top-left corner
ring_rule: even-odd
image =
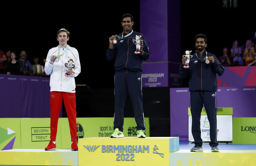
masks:
[[[1,74],[0,118],[50,117],[49,81],[46,77]]]

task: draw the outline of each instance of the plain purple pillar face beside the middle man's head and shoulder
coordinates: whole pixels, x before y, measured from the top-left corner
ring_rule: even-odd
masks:
[[[167,0],[140,1],[140,32],[149,47],[147,62],[167,62]]]

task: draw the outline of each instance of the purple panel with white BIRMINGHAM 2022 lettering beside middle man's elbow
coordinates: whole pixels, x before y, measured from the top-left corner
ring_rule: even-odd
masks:
[[[168,87],[168,62],[143,63],[143,87]]]

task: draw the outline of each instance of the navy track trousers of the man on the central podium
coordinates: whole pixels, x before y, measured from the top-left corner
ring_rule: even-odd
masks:
[[[115,114],[114,129],[123,132],[124,105],[127,93],[132,101],[137,130],[146,130],[143,112],[142,76],[140,72],[125,71],[115,73]]]

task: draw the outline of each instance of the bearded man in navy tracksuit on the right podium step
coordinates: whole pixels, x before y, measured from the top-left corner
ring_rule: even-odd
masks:
[[[189,77],[189,94],[190,94],[190,109],[192,115],[192,134],[195,140],[195,146],[191,151],[203,151],[202,139],[200,130],[200,117],[203,104],[210,122],[210,138],[209,145],[212,147],[212,152],[219,151],[217,148],[217,100],[216,91],[217,78],[216,73],[220,76],[224,72],[224,67],[220,64],[216,56],[205,51],[207,38],[203,34],[195,37],[197,52],[189,61],[189,68],[186,68],[182,59],[180,66],[180,76]],[[185,67],[184,67],[185,66]]]

